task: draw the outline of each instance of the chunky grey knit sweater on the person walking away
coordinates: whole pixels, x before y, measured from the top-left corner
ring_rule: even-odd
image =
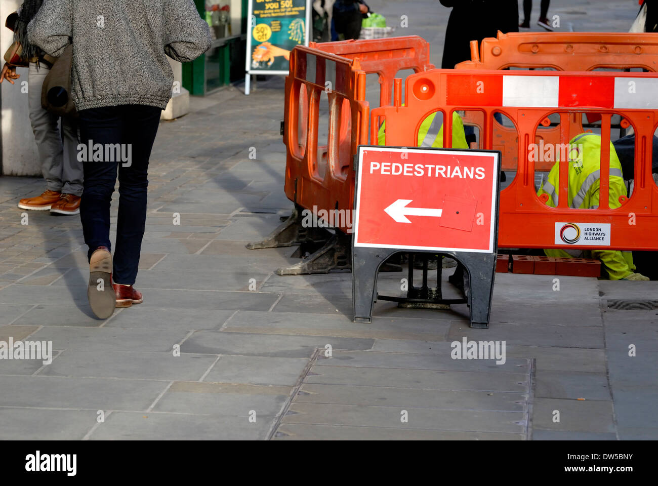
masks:
[[[28,39],[55,57],[73,43],[78,111],[130,104],[164,109],[174,82],[166,55],[193,61],[211,43],[192,0],[45,0]]]

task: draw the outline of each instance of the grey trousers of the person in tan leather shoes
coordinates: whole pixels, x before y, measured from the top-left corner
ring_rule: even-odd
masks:
[[[82,162],[78,161],[78,124],[75,119],[60,117],[41,107],[41,86],[49,72],[43,64],[37,70],[30,63],[28,103],[34,140],[41,158],[41,172],[46,188],[66,194],[82,195]]]

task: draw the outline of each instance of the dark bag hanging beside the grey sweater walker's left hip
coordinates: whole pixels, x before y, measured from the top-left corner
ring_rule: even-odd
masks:
[[[73,46],[69,45],[43,80],[41,107],[61,117],[77,117],[76,105],[71,97],[71,68]]]

